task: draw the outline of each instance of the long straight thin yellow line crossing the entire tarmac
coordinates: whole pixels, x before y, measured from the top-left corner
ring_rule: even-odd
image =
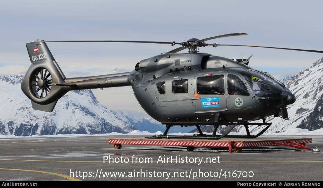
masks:
[[[3,160],[3,161],[38,161],[38,162],[77,162],[77,163],[102,163],[103,162],[103,161],[56,161],[56,160],[28,160],[28,159],[0,159],[0,160]],[[220,161],[220,163],[322,163],[322,162],[323,161]],[[106,163],[109,163],[109,161],[106,161]],[[136,162],[130,161],[129,163],[136,163]],[[152,163],[158,163],[158,161],[152,161]],[[159,161],[159,163],[162,163],[162,162]],[[165,163],[165,162],[163,162],[163,163]],[[169,162],[169,163],[171,163],[171,162]],[[176,163],[176,162],[173,162],[173,163]],[[196,163],[200,163],[200,161],[198,161]],[[211,162],[202,161],[201,163],[211,163]],[[214,162],[214,163],[218,163],[218,162]]]

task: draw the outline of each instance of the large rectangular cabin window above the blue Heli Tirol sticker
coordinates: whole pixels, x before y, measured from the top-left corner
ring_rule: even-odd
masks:
[[[198,94],[224,95],[224,75],[199,77],[196,87]]]

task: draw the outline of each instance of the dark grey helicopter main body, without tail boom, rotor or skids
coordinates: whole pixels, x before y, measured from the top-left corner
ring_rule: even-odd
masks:
[[[253,74],[270,80],[271,89],[263,89],[265,95],[253,92],[255,82],[247,83],[246,77]],[[137,63],[128,81],[152,118],[162,124],[185,125],[214,123],[216,113],[221,113],[221,122],[266,119],[295,101],[283,84],[265,74],[207,53],[166,53]]]

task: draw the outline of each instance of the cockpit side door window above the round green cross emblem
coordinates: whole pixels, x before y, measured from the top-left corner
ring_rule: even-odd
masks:
[[[250,96],[248,89],[243,81],[234,74],[228,74],[228,94]]]

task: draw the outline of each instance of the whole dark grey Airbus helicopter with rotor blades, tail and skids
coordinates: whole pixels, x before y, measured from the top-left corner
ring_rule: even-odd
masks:
[[[26,43],[31,66],[21,83],[21,89],[31,100],[32,108],[52,112],[61,97],[68,91],[131,86],[141,107],[155,120],[166,125],[162,135],[153,138],[220,139],[234,127],[243,125],[246,135],[231,136],[255,138],[262,135],[272,123],[269,116],[288,119],[287,105],[296,101],[295,95],[267,72],[254,70],[248,59],[230,59],[199,52],[206,46],[246,46],[296,50],[265,46],[208,44],[206,41],[241,36],[230,33],[202,40],[192,38],[182,42],[155,41],[44,41]],[[90,77],[66,78],[47,42],[132,42],[180,45],[138,62],[131,72]],[[188,49],[186,53],[178,53]],[[253,121],[257,121],[253,123]],[[203,134],[201,125],[214,126],[212,135]],[[222,135],[216,135],[220,125],[230,126]],[[250,125],[265,126],[251,135]],[[193,136],[167,135],[172,126],[196,126],[199,134]]]

